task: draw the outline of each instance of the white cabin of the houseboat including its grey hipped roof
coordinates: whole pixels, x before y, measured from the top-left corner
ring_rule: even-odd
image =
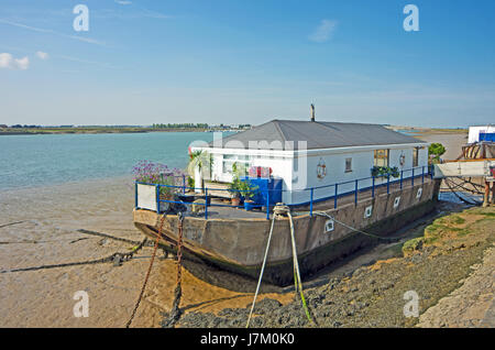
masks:
[[[194,147],[212,155],[210,181],[232,182],[234,163],[272,168],[283,179],[283,201],[308,203],[373,185],[374,166],[397,167],[410,178],[428,172],[428,145],[378,124],[272,120],[251,130]],[[414,171],[413,171],[414,169]],[[386,183],[376,178],[375,185]]]

